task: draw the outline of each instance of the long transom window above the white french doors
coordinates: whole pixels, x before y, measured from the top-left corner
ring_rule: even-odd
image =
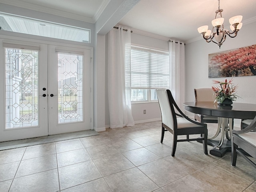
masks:
[[[24,34],[90,43],[89,29],[50,23],[32,18],[0,14],[0,29]]]

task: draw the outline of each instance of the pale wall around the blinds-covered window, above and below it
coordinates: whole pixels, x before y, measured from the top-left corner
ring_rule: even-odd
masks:
[[[164,39],[164,38],[162,38]],[[109,119],[109,107],[108,107],[108,36],[106,35],[106,72],[105,72],[105,125],[106,128],[110,127]],[[148,37],[143,34],[131,34],[131,43],[139,46],[145,46],[148,48],[155,48],[168,51],[168,38],[161,40],[159,38]],[[143,114],[143,110],[146,110],[146,114]],[[161,119],[161,112],[158,102],[150,103],[133,103],[132,104],[132,116],[135,123],[150,122]]]

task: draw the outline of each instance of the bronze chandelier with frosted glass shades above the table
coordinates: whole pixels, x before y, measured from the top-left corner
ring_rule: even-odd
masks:
[[[226,40],[226,35],[230,36],[231,38],[236,37],[237,32],[242,27],[242,15],[234,16],[229,19],[230,22],[230,30],[224,29],[224,18],[222,18],[222,12],[223,9],[220,9],[220,0],[219,1],[219,8],[215,12],[215,19],[212,20],[212,31],[208,30],[208,25],[204,25],[199,27],[197,30],[198,32],[203,36],[203,38],[206,40],[206,42],[214,42],[219,47],[223,44],[223,42]],[[219,15],[219,18],[216,18],[217,15]],[[216,29],[216,32],[213,32],[214,28]],[[212,32],[212,33],[211,33]],[[232,35],[234,34],[234,35]],[[215,40],[215,41],[214,41]]]

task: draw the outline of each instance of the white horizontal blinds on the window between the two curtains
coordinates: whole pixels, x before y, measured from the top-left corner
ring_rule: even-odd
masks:
[[[132,89],[170,87],[169,53],[132,46]]]

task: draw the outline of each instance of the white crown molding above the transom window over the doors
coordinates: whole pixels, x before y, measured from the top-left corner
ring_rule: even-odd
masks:
[[[61,11],[61,10],[57,10],[57,9],[53,9],[53,8],[49,8],[49,7],[45,7],[45,6],[39,6],[36,4],[24,2],[21,0],[20,1],[1,0],[1,3],[8,4],[11,6],[20,7],[20,8],[30,9],[30,10],[34,10],[34,11],[39,11],[39,12],[43,12],[43,13],[47,13],[47,14],[52,14],[52,15],[56,15],[56,16],[61,16],[61,17],[65,17],[65,18],[71,18],[74,20],[84,21],[84,22],[88,22],[88,23],[95,23],[94,19],[90,18],[90,17],[86,17],[86,16],[82,16],[82,15],[78,15],[78,14],[74,14],[74,13],[70,13],[70,12],[65,12],[65,11]]]

